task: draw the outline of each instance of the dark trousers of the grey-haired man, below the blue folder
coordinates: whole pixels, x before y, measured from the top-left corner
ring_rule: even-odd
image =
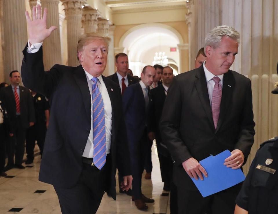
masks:
[[[233,214],[242,183],[203,198],[199,191],[178,188],[179,214]]]

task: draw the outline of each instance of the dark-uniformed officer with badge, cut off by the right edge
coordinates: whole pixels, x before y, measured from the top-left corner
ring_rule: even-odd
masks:
[[[278,64],[277,64],[278,73]],[[278,82],[273,94],[278,94]],[[278,137],[260,145],[243,182],[235,206],[235,214],[277,213]]]

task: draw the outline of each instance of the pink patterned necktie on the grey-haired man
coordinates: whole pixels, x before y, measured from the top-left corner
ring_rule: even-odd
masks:
[[[213,87],[213,93],[212,93],[211,111],[212,111],[212,118],[213,118],[214,127],[216,129],[218,118],[219,118],[219,113],[220,113],[222,87],[219,83],[220,82],[219,77],[214,77],[212,79],[215,82],[215,85]]]

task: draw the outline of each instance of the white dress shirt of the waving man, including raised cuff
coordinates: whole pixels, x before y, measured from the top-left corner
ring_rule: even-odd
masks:
[[[40,47],[42,46],[41,43],[36,43],[32,44],[30,46],[30,43],[28,41],[28,53],[36,53],[39,51]],[[84,68],[83,68],[84,69]],[[85,71],[85,69],[84,69]],[[94,154],[94,144],[93,144],[93,100],[92,100],[92,87],[93,87],[93,82],[92,78],[93,76],[89,74],[87,71],[85,71],[86,78],[87,78],[87,83],[89,87],[89,91],[91,94],[91,130],[89,133],[89,137],[87,139],[87,143],[83,152],[83,157],[87,158],[93,158]],[[103,104],[104,104],[104,114],[105,114],[105,136],[106,136],[106,154],[109,154],[110,152],[110,146],[111,146],[111,128],[112,128],[112,105],[111,105],[111,100],[107,91],[107,88],[103,82],[102,76],[98,77],[98,89],[100,91],[100,94],[103,99]]]

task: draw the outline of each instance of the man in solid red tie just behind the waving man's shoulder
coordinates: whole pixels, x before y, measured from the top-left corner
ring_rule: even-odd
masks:
[[[125,89],[132,84],[138,82],[136,78],[131,75],[127,75],[128,72],[128,57],[125,53],[118,53],[115,56],[115,66],[117,68],[116,73],[108,76],[107,78],[116,82],[121,89],[122,94]]]

